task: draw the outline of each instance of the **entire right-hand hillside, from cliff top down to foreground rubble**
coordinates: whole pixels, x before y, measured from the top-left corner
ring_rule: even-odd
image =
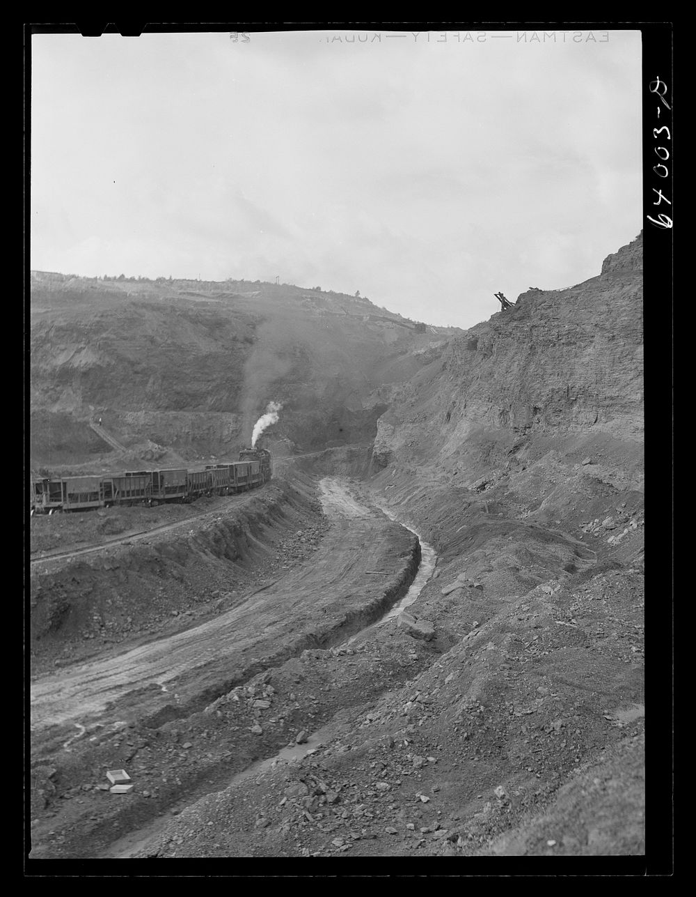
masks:
[[[645,851],[640,269],[639,239],[600,277],[528,292],[391,396],[359,473],[439,553],[416,625],[238,694],[275,714],[290,687],[322,708],[323,688],[371,684],[312,753],[232,780],[131,851]]]

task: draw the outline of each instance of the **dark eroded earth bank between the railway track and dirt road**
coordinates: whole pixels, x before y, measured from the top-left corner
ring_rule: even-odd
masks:
[[[41,562],[30,578],[30,646],[39,660],[63,644],[118,642],[142,628],[227,608],[276,556],[275,545],[314,527],[321,509],[309,481],[274,481],[262,494],[164,534],[116,544],[73,562]],[[127,540],[126,540],[127,543]],[[193,610],[192,610],[193,609]]]

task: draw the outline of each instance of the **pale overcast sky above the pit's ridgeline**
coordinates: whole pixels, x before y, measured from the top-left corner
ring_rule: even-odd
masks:
[[[580,283],[641,227],[640,32],[550,33],[35,35],[30,265],[459,327]]]

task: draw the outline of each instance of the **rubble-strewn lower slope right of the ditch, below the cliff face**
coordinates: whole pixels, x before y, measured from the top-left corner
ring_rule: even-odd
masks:
[[[211,710],[233,725],[258,701],[275,718],[290,695],[314,727],[344,710],[309,752],[230,779],[119,855],[644,852],[640,527],[617,558],[614,530],[586,545],[520,519],[502,491],[485,509],[476,492],[385,479],[380,501],[439,547],[408,608],[433,638],[390,621],[223,696]]]

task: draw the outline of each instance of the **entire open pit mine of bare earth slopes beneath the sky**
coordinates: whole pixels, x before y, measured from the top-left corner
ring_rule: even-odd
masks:
[[[644,854],[641,235],[468,331],[248,286],[31,275],[30,858]]]

